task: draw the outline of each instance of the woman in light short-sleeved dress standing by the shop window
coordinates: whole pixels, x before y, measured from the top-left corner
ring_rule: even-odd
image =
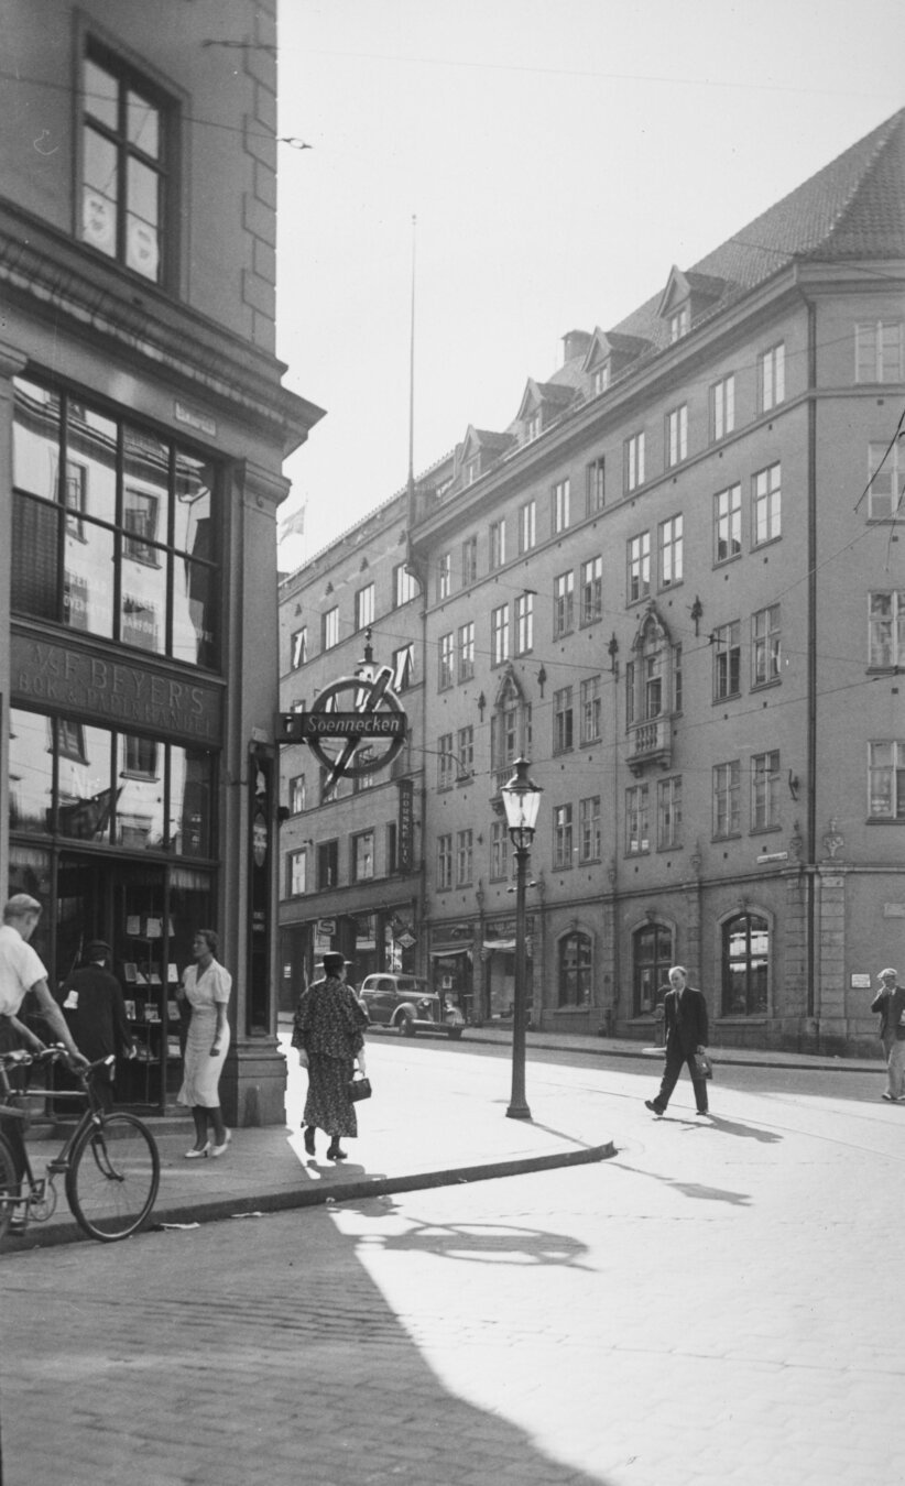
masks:
[[[183,975],[180,996],[192,1006],[180,1104],[192,1107],[195,1144],[186,1159],[221,1156],[232,1138],[220,1112],[220,1073],[229,1051],[229,1021],[226,1006],[232,990],[232,975],[218,964],[220,941],[213,929],[199,929],[192,941],[195,964]],[[208,1120],[214,1138],[208,1137]]]

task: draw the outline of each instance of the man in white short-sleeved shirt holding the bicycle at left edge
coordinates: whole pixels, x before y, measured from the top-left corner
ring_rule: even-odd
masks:
[[[88,1058],[76,1048],[65,1016],[51,994],[48,972],[28,942],[40,915],[42,905],[28,893],[15,893],[3,909],[3,926],[0,927],[0,1052],[10,1052],[22,1043],[33,1052],[43,1051],[45,1045],[40,1037],[18,1016],[25,996],[28,991],[34,991],[39,1010],[64,1045],[70,1064],[76,1068],[86,1068]],[[21,1181],[25,1172],[25,1147],[19,1122],[0,1117],[0,1128],[12,1147]]]

